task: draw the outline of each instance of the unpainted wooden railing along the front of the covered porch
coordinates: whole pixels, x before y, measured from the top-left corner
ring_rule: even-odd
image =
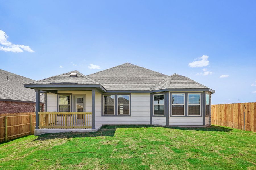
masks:
[[[91,129],[92,112],[39,112],[39,129]]]

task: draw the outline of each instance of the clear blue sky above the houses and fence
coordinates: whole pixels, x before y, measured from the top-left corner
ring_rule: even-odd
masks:
[[[0,4],[0,69],[39,80],[129,62],[200,82],[213,104],[256,101],[256,1]]]

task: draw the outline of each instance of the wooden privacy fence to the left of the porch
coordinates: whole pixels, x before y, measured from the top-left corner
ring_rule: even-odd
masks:
[[[34,134],[35,124],[35,112],[0,114],[0,142]]]

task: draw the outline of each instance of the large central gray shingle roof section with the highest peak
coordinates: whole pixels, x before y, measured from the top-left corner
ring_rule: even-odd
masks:
[[[168,75],[125,63],[86,77],[97,81],[106,90],[150,90]]]

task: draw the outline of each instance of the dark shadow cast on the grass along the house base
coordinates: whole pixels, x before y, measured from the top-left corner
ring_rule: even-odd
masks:
[[[221,127],[221,126],[209,126],[209,127],[167,127],[167,126],[154,126],[154,125],[105,125],[102,126],[97,132],[65,132],[65,133],[48,133],[39,135],[34,141],[44,141],[47,139],[64,139],[64,138],[76,138],[76,137],[98,137],[98,136],[110,136],[115,135],[117,128],[168,128],[168,129],[178,129],[178,130],[195,130],[195,131],[216,131],[216,132],[229,132],[232,129]]]

